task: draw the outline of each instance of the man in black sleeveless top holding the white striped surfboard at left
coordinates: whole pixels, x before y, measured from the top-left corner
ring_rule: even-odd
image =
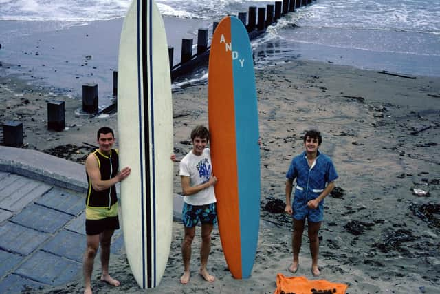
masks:
[[[115,184],[129,176],[131,169],[119,171],[118,151],[112,149],[115,135],[109,127],[101,127],[97,134],[99,148],[87,156],[85,172],[89,189],[85,200],[85,231],[87,249],[84,255],[84,293],[91,291],[91,272],[98,247],[101,246],[101,281],[120,286],[109,275],[111,236],[119,229],[118,198]]]

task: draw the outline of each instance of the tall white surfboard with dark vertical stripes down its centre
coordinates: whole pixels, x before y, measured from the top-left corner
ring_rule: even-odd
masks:
[[[118,65],[122,229],[131,271],[142,288],[162,279],[173,225],[173,105],[165,27],[153,0],[133,0],[122,27]]]

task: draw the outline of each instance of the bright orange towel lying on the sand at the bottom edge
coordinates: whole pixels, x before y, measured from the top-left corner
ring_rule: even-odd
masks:
[[[345,294],[348,287],[346,284],[307,280],[306,277],[285,277],[278,273],[274,294]]]

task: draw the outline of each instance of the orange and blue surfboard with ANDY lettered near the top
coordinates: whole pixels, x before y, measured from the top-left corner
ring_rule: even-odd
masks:
[[[236,17],[222,19],[212,36],[208,120],[223,253],[232,276],[248,278],[259,238],[259,114],[249,36]]]

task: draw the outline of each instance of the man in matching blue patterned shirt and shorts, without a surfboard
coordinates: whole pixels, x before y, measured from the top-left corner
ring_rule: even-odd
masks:
[[[319,238],[318,231],[324,220],[324,198],[335,187],[338,178],[331,159],[318,151],[322,143],[320,132],[312,130],[304,135],[305,151],[294,157],[286,174],[286,207],[285,212],[293,216],[294,233],[292,247],[294,260],[289,271],[296,273],[299,266],[299,253],[303,241],[305,219],[307,218],[310,252],[312,258],[311,273],[320,275],[318,269]],[[296,178],[294,202],[291,195]]]

